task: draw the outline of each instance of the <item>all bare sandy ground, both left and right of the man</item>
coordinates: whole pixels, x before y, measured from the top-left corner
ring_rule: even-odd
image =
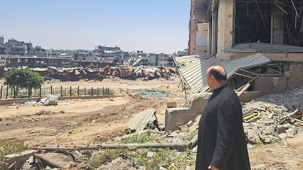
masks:
[[[50,85],[47,84],[46,85]],[[129,89],[160,89],[169,92],[163,98],[133,98],[116,91],[119,97],[110,101],[102,99],[65,100],[62,106],[0,106],[0,138],[25,140],[29,144],[83,144],[102,142],[125,134],[132,115],[144,109],[155,108],[161,123],[165,121],[166,102],[184,104],[184,93],[177,89],[179,78],[172,80],[130,81],[110,80],[102,82],[54,81],[53,86],[106,86]],[[96,120],[95,122],[93,120]],[[93,121],[93,122],[92,122]],[[287,139],[287,143],[261,145],[249,150],[251,166],[264,164],[264,169],[303,169],[303,134]],[[193,166],[191,167],[193,168]]]

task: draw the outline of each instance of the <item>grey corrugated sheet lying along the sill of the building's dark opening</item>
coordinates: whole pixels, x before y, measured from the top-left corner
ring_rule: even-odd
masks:
[[[303,47],[254,42],[254,43],[236,44],[230,48],[224,49],[224,52],[225,53],[234,53],[234,52],[303,53]]]

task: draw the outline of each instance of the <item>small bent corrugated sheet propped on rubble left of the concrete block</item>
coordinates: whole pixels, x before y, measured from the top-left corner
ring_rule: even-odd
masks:
[[[127,126],[129,129],[135,129],[136,132],[144,130],[152,115],[156,114],[156,109],[150,108],[139,112],[135,117],[129,120]]]

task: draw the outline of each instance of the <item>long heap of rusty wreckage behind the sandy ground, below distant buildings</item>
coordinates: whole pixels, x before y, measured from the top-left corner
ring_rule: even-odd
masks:
[[[155,78],[169,78],[176,73],[175,68],[152,68],[152,67],[132,67],[132,66],[106,66],[104,68],[33,68],[39,72],[46,80],[59,79],[61,81],[79,81],[84,79],[102,81],[105,78],[120,77],[130,80],[141,78],[142,80],[152,80]]]

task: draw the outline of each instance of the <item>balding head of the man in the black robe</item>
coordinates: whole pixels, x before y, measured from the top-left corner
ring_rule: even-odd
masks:
[[[206,81],[211,89],[217,89],[226,84],[227,74],[221,66],[211,66],[206,71]]]

